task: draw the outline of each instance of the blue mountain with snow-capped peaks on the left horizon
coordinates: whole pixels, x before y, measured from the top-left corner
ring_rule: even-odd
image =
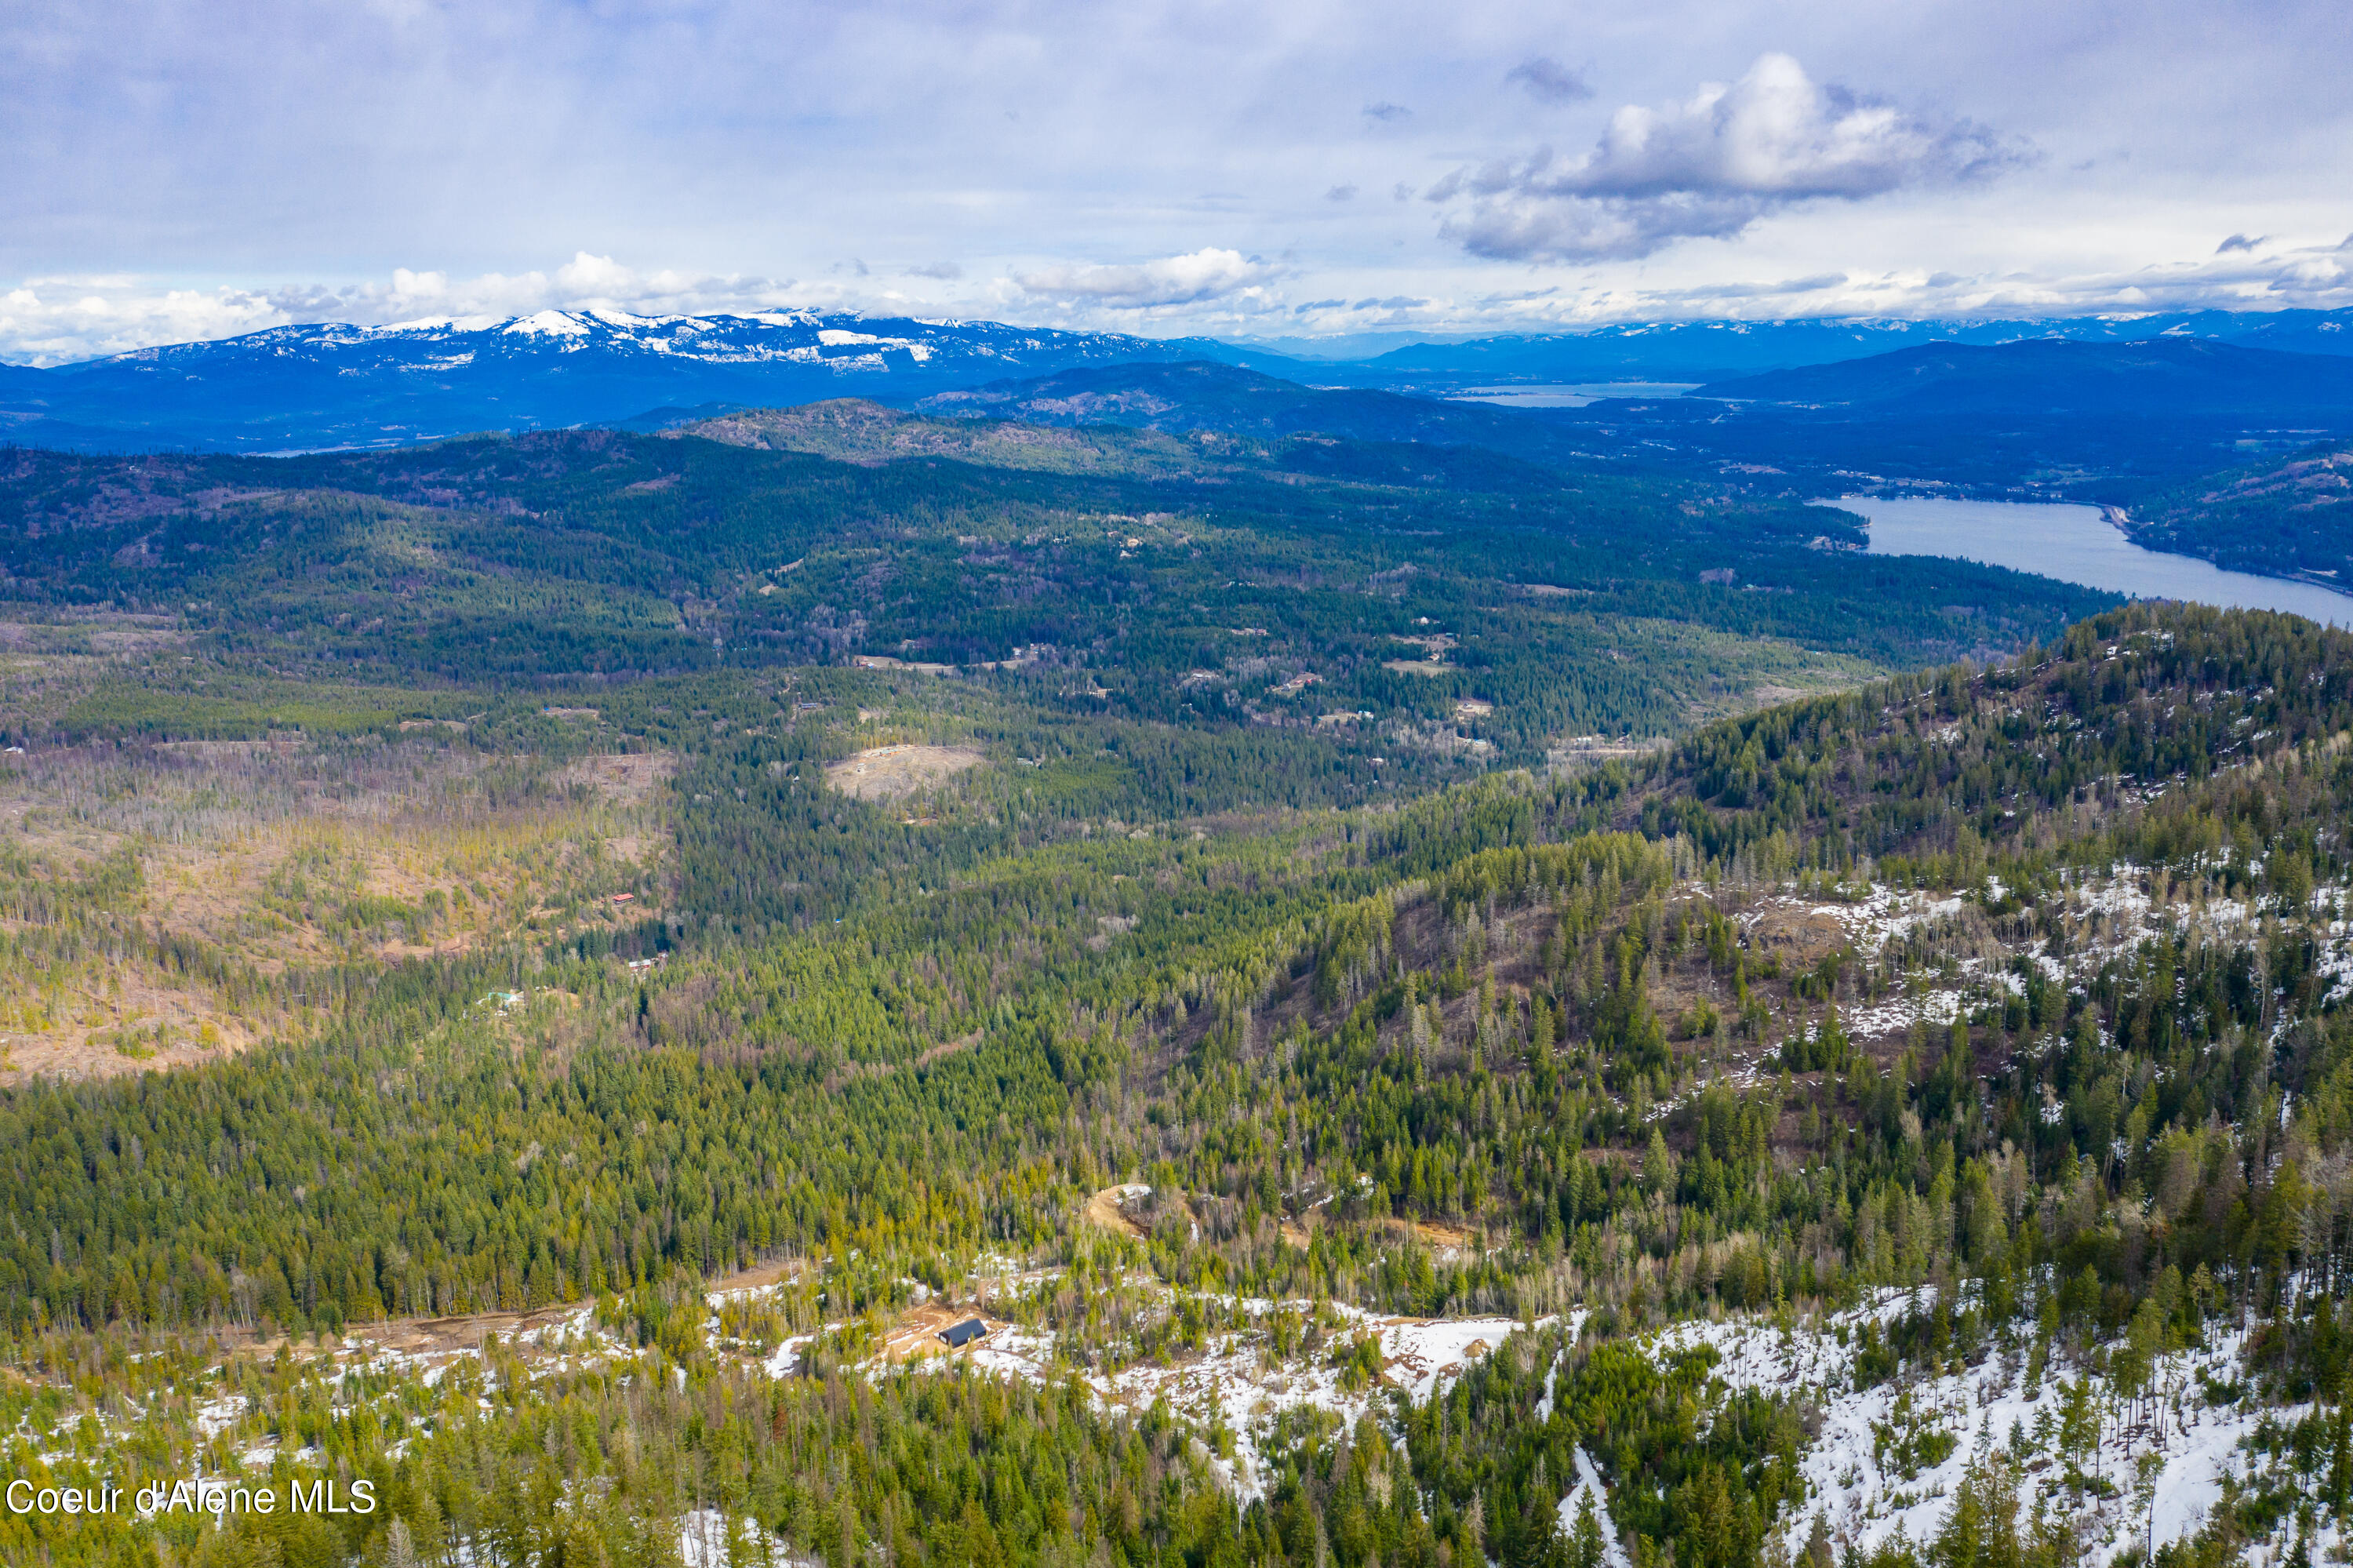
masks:
[[[287,450],[654,410],[920,398],[1075,365],[1198,358],[1205,344],[972,320],[626,315],[322,323],[139,348],[0,379],[0,436],[28,445]]]

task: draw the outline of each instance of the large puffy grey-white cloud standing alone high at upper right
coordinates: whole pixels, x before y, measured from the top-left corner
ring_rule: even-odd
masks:
[[[1454,170],[1426,193],[1468,195],[1442,231],[1475,257],[1605,261],[1675,240],[1732,238],[1809,200],[1984,179],[2021,162],[1993,132],[1817,85],[1788,54],[1664,108],[1628,104],[1591,153],[1553,148]]]

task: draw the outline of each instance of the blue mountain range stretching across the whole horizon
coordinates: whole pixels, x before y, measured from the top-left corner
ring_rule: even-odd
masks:
[[[1725,384],[1939,346],[2000,351],[1986,365],[2038,374],[2033,344],[2214,344],[2344,358],[2353,311],[2261,318],[2198,311],[2009,323],[1788,320],[1647,323],[1544,337],[1409,344],[1372,358],[1308,360],[1214,339],[1056,332],[986,320],[767,311],[628,315],[539,311],[388,327],[273,327],[35,370],[0,365],[0,438],[89,452],[409,445],[466,431],[621,424],[659,428],[736,407],[838,396],[918,403],[993,381],[1144,363],[1224,363],[1320,388],[1459,393],[1482,381]],[[2009,356],[2007,360],[2002,356]],[[2252,360],[2238,360],[2252,365]],[[2285,365],[2285,360],[2282,360]],[[1984,374],[1984,372],[1981,372]],[[2221,360],[2205,372],[2231,372]],[[2311,377],[2327,372],[2308,370]],[[2259,377],[2257,377],[2259,379]],[[1741,391],[1737,396],[1777,396]],[[2332,393],[2334,396],[2334,393]],[[1798,398],[1793,400],[1817,400]],[[2238,405],[2233,405],[2238,407]]]

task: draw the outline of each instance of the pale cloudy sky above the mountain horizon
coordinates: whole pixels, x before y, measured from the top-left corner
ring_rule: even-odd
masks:
[[[0,363],[2353,304],[2344,0],[12,0]]]

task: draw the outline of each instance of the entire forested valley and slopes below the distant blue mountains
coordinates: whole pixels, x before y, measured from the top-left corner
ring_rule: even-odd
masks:
[[[2337,1549],[2353,638],[1172,381],[7,457],[0,1556]]]

